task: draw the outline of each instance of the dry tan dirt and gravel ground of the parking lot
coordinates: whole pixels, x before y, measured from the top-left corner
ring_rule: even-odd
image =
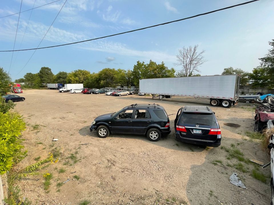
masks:
[[[150,142],[145,136],[118,134],[102,139],[90,133],[89,126],[98,115],[130,104],[156,103],[174,114],[185,105],[209,105],[207,99],[152,100],[149,96],[113,97],[56,90],[24,90],[21,96],[26,100],[17,102],[15,109],[27,123],[23,138],[28,156],[18,167],[35,163],[35,157],[45,159],[49,152],[59,155],[59,161],[41,170],[41,175],[18,182],[22,197],[33,204],[80,204],[85,199],[90,204],[270,203],[269,178],[262,183],[252,177],[253,170],[269,177],[270,169],[229,155],[229,150],[237,148],[245,159],[269,161],[259,141],[245,136],[246,131],[253,130],[254,105],[250,103],[229,109],[211,107],[221,126],[222,144],[203,147],[175,140],[175,115],[170,116],[172,132],[158,142]],[[58,141],[53,142],[53,138]],[[59,173],[60,169],[65,172]],[[48,192],[42,175],[47,172],[53,174]],[[229,182],[233,172],[247,189]],[[70,181],[60,183],[67,179]]]

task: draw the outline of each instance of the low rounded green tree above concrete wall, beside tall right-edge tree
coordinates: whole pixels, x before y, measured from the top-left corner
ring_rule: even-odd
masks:
[[[252,73],[249,73],[249,79],[253,86],[268,86],[270,79],[267,75],[268,69],[265,67],[253,68]]]

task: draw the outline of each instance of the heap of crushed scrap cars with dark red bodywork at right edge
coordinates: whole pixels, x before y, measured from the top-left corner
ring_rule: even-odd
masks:
[[[260,103],[255,110],[255,132],[261,132],[267,127],[268,120],[274,120],[274,95],[262,95],[255,99]]]

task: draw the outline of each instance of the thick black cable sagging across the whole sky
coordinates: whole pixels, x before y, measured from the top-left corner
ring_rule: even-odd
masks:
[[[174,20],[174,21],[170,21],[170,22],[166,22],[166,23],[156,24],[156,25],[148,26],[148,27],[144,27],[144,28],[138,28],[138,29],[135,29],[135,30],[130,30],[130,31],[126,31],[126,32],[122,32],[122,33],[117,33],[117,34],[112,34],[112,35],[103,36],[103,37],[99,37],[99,38],[92,38],[92,39],[89,39],[89,40],[83,40],[83,41],[78,41],[78,42],[73,42],[73,43],[67,43],[67,44],[61,44],[61,45],[56,45],[56,46],[47,46],[47,47],[41,47],[41,48],[29,48],[29,49],[21,49],[21,50],[2,50],[0,52],[36,50],[36,49],[54,48],[54,47],[59,47],[59,46],[67,46],[67,45],[71,45],[71,44],[83,43],[83,42],[87,42],[87,41],[98,40],[98,39],[102,39],[102,38],[107,38],[107,37],[111,37],[111,36],[117,36],[117,35],[121,35],[121,34],[125,34],[125,33],[130,33],[130,32],[134,32],[134,31],[138,31],[138,30],[144,30],[144,29],[147,29],[147,28],[152,28],[152,27],[156,27],[156,26],[170,24],[170,23],[174,23],[174,22],[178,22],[178,21],[182,21],[182,20],[186,20],[186,19],[192,19],[192,18],[195,18],[195,17],[198,17],[198,16],[207,15],[207,14],[214,13],[214,12],[221,11],[221,10],[225,10],[225,9],[230,9],[230,8],[233,8],[233,7],[245,5],[245,4],[248,4],[248,3],[255,2],[255,1],[259,1],[259,0],[247,1],[245,3],[236,4],[236,5],[233,5],[233,6],[225,7],[225,8],[222,8],[222,9],[217,9],[217,10],[214,10],[214,11],[209,11],[207,13],[198,14],[198,15],[195,15],[195,16],[192,16],[192,17],[186,17],[184,19],[178,19],[178,20]]]

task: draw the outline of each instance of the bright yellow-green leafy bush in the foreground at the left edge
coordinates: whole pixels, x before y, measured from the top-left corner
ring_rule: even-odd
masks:
[[[23,118],[17,113],[0,112],[0,175],[9,171],[13,164],[27,154],[22,151],[21,132],[25,129]]]

